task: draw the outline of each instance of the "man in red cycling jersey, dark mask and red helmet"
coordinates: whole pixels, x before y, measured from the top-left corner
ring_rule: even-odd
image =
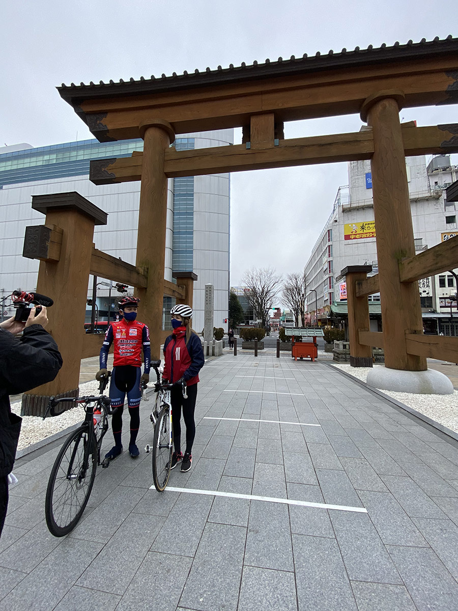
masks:
[[[100,350],[100,371],[95,378],[100,381],[108,375],[107,359],[111,344],[114,344],[114,361],[111,376],[109,397],[112,408],[118,408],[112,415],[111,428],[115,445],[105,455],[105,458],[116,458],[123,451],[122,446],[122,414],[124,400],[127,402],[130,414],[130,441],[129,454],[136,458],[140,452],[137,448],[137,434],[140,426],[140,399],[142,384],[150,379],[150,332],[144,323],[136,321],[137,305],[140,299],[123,297],[119,302],[121,320],[111,323],[107,329],[105,339]],[[141,375],[142,348],[145,361],[144,373]],[[141,377],[140,377],[141,375]]]

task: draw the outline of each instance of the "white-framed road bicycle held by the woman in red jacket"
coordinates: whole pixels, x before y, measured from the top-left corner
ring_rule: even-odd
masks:
[[[147,444],[146,452],[153,453],[153,481],[158,492],[163,492],[167,481],[169,481],[170,468],[172,466],[173,453],[173,421],[172,403],[170,401],[170,389],[173,386],[181,386],[183,397],[186,399],[186,382],[180,379],[175,384],[164,384],[161,382],[159,373],[160,360],[154,360],[151,367],[156,371],[157,382],[154,385],[156,400],[151,411],[150,420],[153,423],[154,436],[153,445]]]

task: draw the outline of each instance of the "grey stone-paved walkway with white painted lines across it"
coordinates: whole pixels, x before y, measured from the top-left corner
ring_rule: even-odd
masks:
[[[458,609],[458,444],[325,362],[263,352],[206,363],[191,471],[159,494],[151,455],[123,453],[65,538],[44,519],[62,441],[19,459],[0,611]]]

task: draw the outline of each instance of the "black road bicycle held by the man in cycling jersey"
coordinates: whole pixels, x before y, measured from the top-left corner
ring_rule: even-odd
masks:
[[[67,535],[78,524],[87,505],[100,464],[100,448],[108,430],[108,416],[118,408],[111,409],[111,399],[103,395],[109,376],[100,382],[98,396],[49,398],[46,415],[56,416],[59,404],[73,402],[82,404],[84,422],[65,439],[54,461],[48,488],[46,488],[45,516],[49,532],[54,536]],[[109,459],[103,460],[102,467],[109,466]]]

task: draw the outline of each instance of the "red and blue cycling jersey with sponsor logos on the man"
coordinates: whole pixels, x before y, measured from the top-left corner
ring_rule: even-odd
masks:
[[[111,323],[105,334],[100,350],[100,368],[107,368],[108,351],[114,344],[113,367],[120,365],[142,366],[142,348],[145,360],[144,373],[150,373],[151,347],[150,332],[144,323],[136,320],[126,321],[124,318],[118,323]]]

